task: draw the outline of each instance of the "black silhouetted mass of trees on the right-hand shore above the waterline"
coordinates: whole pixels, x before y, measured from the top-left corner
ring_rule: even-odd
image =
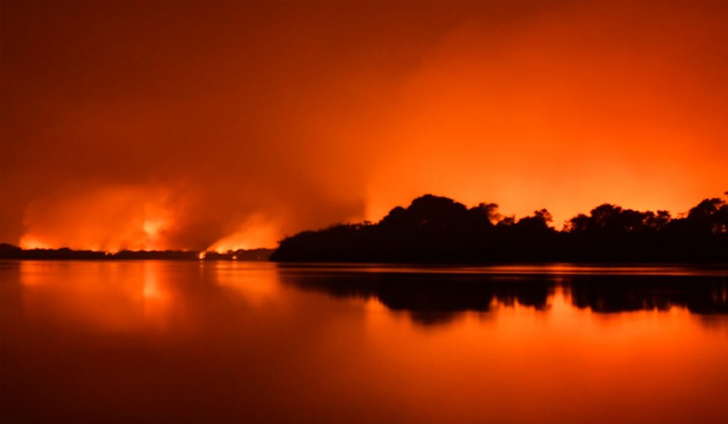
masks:
[[[682,217],[602,204],[549,226],[546,209],[516,220],[498,205],[467,208],[425,196],[379,223],[339,224],[283,239],[278,262],[728,263],[728,202],[700,201]]]

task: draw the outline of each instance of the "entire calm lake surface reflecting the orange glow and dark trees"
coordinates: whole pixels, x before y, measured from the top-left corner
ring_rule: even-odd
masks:
[[[0,263],[3,423],[726,423],[728,272]]]

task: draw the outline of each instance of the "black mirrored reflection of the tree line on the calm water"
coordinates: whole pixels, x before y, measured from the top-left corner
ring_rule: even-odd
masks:
[[[466,311],[515,304],[548,307],[556,286],[577,308],[598,313],[668,310],[728,313],[726,277],[686,276],[493,276],[447,273],[356,273],[280,270],[283,284],[333,297],[375,298],[392,311],[408,311],[419,324],[449,322]]]

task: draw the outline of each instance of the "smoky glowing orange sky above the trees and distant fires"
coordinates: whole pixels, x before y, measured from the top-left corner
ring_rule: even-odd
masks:
[[[0,239],[228,249],[435,193],[728,190],[728,3],[2,2]]]

